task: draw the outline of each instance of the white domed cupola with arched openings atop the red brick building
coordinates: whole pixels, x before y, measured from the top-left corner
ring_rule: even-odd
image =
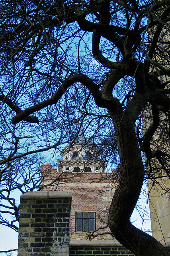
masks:
[[[63,160],[58,160],[59,172],[105,172],[102,151],[92,138],[81,135],[71,140],[61,152]]]

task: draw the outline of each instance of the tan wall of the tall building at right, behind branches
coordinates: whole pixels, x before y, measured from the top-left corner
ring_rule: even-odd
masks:
[[[163,11],[155,10],[157,19],[161,20]],[[154,12],[153,12],[154,14]],[[153,16],[154,17],[154,16]],[[156,26],[149,28],[149,46],[151,46],[152,41],[154,40],[154,35],[156,31]],[[169,69],[169,52],[166,49],[169,49],[170,42],[170,33],[169,33],[169,24],[164,26],[162,31],[159,34],[159,38],[156,42],[156,47],[154,48],[154,56],[152,60],[157,62],[159,66]],[[160,54],[160,49],[164,49],[164,53]],[[164,56],[164,58],[162,58]],[[150,64],[150,72],[156,73],[156,78],[162,83],[162,90],[169,88],[169,76],[165,76],[160,72],[156,64]],[[160,73],[159,73],[160,72]],[[155,88],[157,91],[158,88]],[[155,90],[154,89],[154,90]],[[152,117],[152,112],[150,111],[152,107],[145,107],[144,112],[144,124],[143,131],[146,132],[149,127],[152,126],[150,117]],[[152,151],[162,151],[161,157],[150,160],[150,166],[153,170],[151,176],[148,175],[148,191],[149,191],[149,206],[150,206],[150,218],[152,226],[152,236],[160,242],[170,242],[170,175],[169,168],[170,162],[170,140],[169,135],[166,129],[168,128],[168,115],[165,114],[165,111],[160,111],[159,108],[159,125],[154,131],[154,136],[151,140],[151,150]],[[153,118],[153,117],[152,117]],[[154,117],[155,118],[155,117]],[[155,126],[156,119],[153,118],[153,124]],[[161,160],[161,161],[160,161]],[[162,163],[161,163],[162,162]],[[150,173],[150,166],[147,167],[148,173]],[[155,173],[155,174],[154,174]]]

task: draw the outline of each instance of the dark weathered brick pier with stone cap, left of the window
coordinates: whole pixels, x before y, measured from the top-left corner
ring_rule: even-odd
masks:
[[[71,196],[66,192],[21,195],[18,256],[68,256]]]

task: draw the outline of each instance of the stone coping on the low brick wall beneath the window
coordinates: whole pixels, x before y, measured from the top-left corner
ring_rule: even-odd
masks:
[[[123,246],[117,240],[72,240],[70,241],[70,247],[88,247],[88,246],[98,246],[98,247],[114,247],[114,246]]]

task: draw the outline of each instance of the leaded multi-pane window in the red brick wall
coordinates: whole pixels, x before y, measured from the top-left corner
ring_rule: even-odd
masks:
[[[91,232],[96,229],[96,212],[76,212],[76,232]]]

